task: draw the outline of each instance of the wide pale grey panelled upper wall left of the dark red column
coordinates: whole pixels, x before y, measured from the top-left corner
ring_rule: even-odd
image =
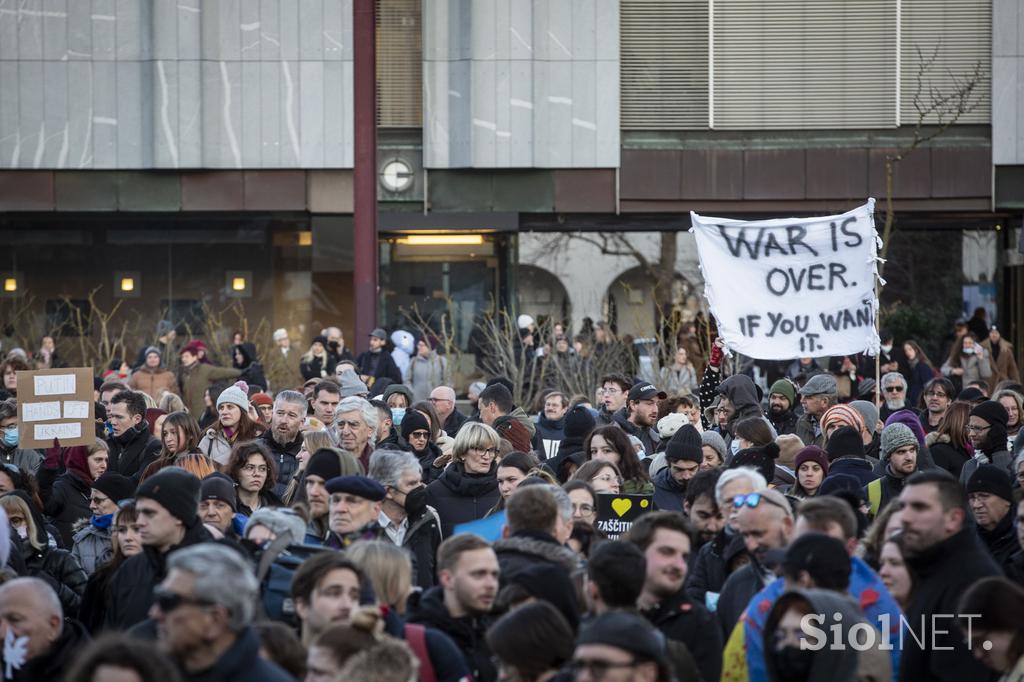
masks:
[[[352,0],[0,3],[0,168],[351,168]]]

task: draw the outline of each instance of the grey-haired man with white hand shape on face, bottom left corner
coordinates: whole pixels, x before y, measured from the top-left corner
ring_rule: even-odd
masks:
[[[38,578],[0,585],[0,637],[11,643],[0,672],[15,681],[62,679],[89,639],[82,624],[65,621],[60,599]]]

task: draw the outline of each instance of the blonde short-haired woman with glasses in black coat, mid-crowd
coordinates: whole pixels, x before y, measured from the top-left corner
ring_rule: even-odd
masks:
[[[486,424],[468,422],[455,438],[452,463],[427,485],[427,504],[441,519],[447,538],[459,523],[483,518],[498,504],[498,450],[501,436]]]

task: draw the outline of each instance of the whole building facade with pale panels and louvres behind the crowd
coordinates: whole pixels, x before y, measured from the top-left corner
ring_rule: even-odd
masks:
[[[464,344],[498,305],[649,334],[652,270],[673,270],[663,303],[701,308],[690,211],[881,212],[891,195],[887,300],[938,296],[944,325],[994,291],[1021,340],[1016,0],[377,9],[389,329],[447,314]],[[306,343],[350,332],[351,17],[352,0],[0,8],[7,316],[71,335],[91,293],[130,299],[143,337],[163,318],[220,333],[239,303]]]

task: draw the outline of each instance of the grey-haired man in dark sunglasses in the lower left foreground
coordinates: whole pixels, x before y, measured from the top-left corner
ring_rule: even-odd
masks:
[[[167,560],[150,617],[157,639],[190,680],[267,680],[292,677],[259,654],[252,629],[259,584],[237,550],[204,543]]]

